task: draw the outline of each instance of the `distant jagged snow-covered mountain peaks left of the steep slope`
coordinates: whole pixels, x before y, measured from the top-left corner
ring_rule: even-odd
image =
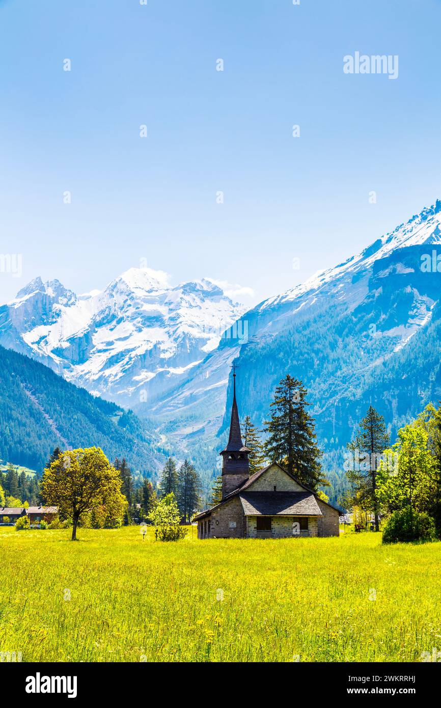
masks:
[[[171,287],[166,273],[149,268],[80,296],[36,278],[0,307],[0,344],[132,406],[197,366],[242,309],[210,280]]]

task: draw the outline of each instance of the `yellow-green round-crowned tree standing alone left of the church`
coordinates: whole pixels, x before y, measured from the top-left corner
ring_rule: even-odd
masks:
[[[45,469],[41,493],[46,504],[59,507],[62,518],[72,522],[72,540],[81,518],[105,508],[109,518],[122,518],[127,501],[122,480],[100,447],[63,452]]]

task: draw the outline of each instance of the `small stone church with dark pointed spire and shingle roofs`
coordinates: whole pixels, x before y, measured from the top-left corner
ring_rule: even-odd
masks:
[[[236,372],[233,382],[229,440],[220,453],[222,501],[195,516],[197,537],[338,536],[338,508],[322,501],[280,464],[273,462],[250,476],[236,402]]]

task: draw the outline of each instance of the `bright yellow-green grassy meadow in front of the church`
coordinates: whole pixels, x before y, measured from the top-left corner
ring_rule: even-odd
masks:
[[[441,648],[441,543],[383,547],[369,533],[165,544],[151,530],[143,542],[139,527],[69,535],[0,527],[0,651],[23,661],[421,661]]]

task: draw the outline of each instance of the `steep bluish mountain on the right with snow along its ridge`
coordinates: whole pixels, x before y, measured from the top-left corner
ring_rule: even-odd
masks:
[[[441,398],[441,272],[434,253],[441,261],[440,200],[357,256],[244,314],[247,341],[222,339],[153,412],[173,421],[171,435],[185,445],[222,433],[236,359],[241,413],[256,425],[290,372],[309,389],[319,442],[330,454],[350,439],[371,401],[400,426]]]

